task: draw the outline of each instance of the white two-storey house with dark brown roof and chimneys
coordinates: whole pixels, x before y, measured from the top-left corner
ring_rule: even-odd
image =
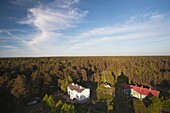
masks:
[[[82,101],[84,99],[90,98],[89,88],[84,88],[74,83],[71,83],[70,85],[68,85],[67,93],[70,96],[71,100],[77,99],[79,101]]]

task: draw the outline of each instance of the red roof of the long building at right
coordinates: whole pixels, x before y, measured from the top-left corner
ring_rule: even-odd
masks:
[[[159,91],[157,90],[153,90],[151,88],[144,88],[143,86],[139,87],[139,86],[134,86],[134,85],[129,85],[129,84],[122,84],[122,88],[123,89],[133,89],[134,91],[136,91],[139,94],[142,95],[151,95],[151,96],[159,96]]]

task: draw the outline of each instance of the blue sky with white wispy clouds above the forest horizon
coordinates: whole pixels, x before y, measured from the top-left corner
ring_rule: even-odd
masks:
[[[0,0],[0,57],[170,55],[170,0]]]

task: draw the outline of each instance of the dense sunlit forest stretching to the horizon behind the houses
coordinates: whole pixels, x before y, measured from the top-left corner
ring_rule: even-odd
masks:
[[[160,96],[170,99],[170,56],[1,58],[0,111],[23,112],[27,110],[27,103],[32,98],[40,97],[43,100],[46,96],[45,100],[48,100],[47,94],[53,95],[59,91],[66,93],[66,87],[71,82],[84,86],[96,83],[96,89],[92,93],[96,91],[100,95],[94,98],[104,100],[106,97],[103,95],[106,94],[100,93],[103,76],[115,87],[121,74],[128,77],[128,83],[152,87],[160,91]],[[61,103],[61,100],[57,101],[56,104]],[[63,103],[62,108],[68,109],[67,105],[71,109],[75,107],[75,112],[81,111],[77,107],[81,105]],[[107,107],[114,111],[114,106]],[[99,111],[97,109],[93,112]]]

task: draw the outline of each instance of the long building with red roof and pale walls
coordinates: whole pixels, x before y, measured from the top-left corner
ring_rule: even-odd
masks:
[[[151,88],[144,88],[143,86],[135,86],[130,84],[122,84],[123,92],[132,97],[139,99],[144,99],[148,96],[159,96],[159,91],[153,90]]]

